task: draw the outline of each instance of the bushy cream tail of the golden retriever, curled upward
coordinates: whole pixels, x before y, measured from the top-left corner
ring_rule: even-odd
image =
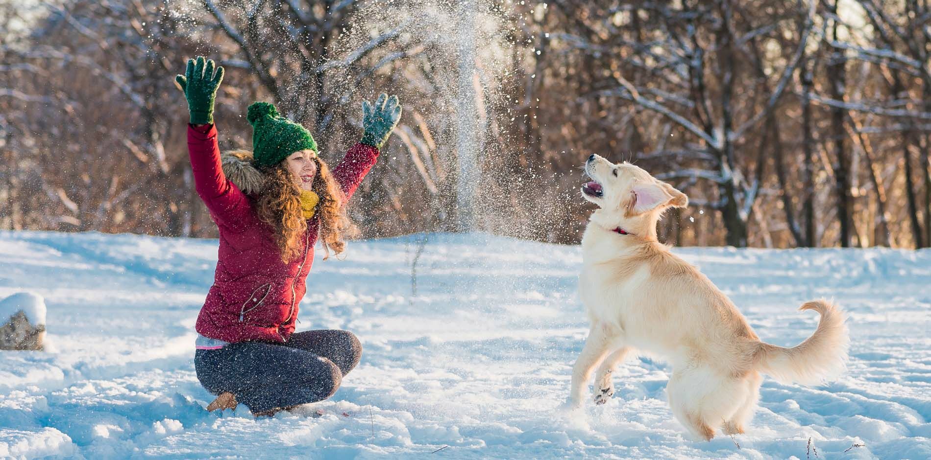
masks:
[[[806,309],[821,315],[815,334],[792,348],[760,342],[755,358],[762,373],[783,383],[813,385],[843,372],[850,344],[843,311],[827,300],[805,302],[799,308]]]

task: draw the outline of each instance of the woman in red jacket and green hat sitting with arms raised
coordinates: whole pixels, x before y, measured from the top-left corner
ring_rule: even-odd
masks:
[[[344,204],[378,158],[400,118],[398,98],[363,102],[365,134],[331,171],[304,126],[255,102],[252,148],[221,156],[213,101],[223,81],[212,60],[190,59],[176,78],[190,112],[188,151],[197,194],[220,230],[214,282],[197,316],[197,379],[219,395],[208,410],[245,403],[252,414],[322,401],[362,353],[356,335],[294,334],[319,239],[340,254],[352,229]],[[232,179],[232,180],[231,180]]]

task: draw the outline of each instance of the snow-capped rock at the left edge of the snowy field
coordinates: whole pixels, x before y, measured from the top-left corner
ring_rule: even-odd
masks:
[[[46,301],[32,293],[0,300],[0,349],[43,349]]]

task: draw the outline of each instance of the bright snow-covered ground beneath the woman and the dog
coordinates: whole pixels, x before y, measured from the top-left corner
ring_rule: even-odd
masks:
[[[315,261],[298,327],[354,331],[362,362],[331,401],[256,420],[204,411],[194,372],[216,241],[0,232],[0,298],[44,296],[48,330],[47,352],[0,352],[0,457],[931,458],[931,251],[677,250],[771,343],[811,334],[805,299],[850,316],[847,375],[767,379],[748,434],[695,442],[646,358],[608,404],[558,416],[587,332],[577,247],[428,235],[413,296],[423,238]]]

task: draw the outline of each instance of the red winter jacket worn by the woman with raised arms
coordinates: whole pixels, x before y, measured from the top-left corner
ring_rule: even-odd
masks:
[[[272,230],[256,216],[250,198],[223,175],[217,128],[188,125],[187,149],[197,194],[220,228],[217,269],[197,316],[197,333],[226,342],[286,341],[306,291],[319,217],[307,222],[304,256],[282,262]],[[332,169],[346,200],[377,159],[378,149],[358,143]]]

